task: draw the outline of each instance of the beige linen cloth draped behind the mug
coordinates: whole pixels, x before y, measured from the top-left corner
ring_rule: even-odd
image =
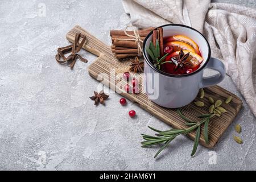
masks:
[[[139,28],[179,23],[202,32],[256,116],[255,9],[210,0],[123,0],[123,7]]]

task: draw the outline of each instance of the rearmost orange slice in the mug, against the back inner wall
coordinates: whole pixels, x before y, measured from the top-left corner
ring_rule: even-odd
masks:
[[[196,53],[198,55],[200,55],[200,51],[199,51],[199,47],[197,46],[197,44],[195,43],[195,41],[193,41],[191,38],[188,38],[185,35],[174,35],[174,36],[168,36],[166,38],[164,38],[164,42],[175,42],[175,41],[180,41],[180,42],[185,42],[189,45],[191,45]]]

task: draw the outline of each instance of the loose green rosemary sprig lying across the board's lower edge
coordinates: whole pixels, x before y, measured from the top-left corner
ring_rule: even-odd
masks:
[[[166,131],[160,131],[160,130],[154,129],[151,126],[148,126],[151,130],[157,132],[155,134],[156,136],[142,134],[142,138],[144,139],[144,141],[142,142],[142,147],[149,147],[149,146],[154,146],[156,144],[164,143],[164,145],[159,149],[159,151],[156,152],[154,158],[156,158],[160,154],[160,152],[165,147],[167,147],[168,144],[180,134],[187,135],[188,133],[191,133],[192,131],[197,130],[195,142],[193,145],[193,150],[191,152],[191,156],[195,155],[197,146],[199,144],[201,125],[203,124],[204,124],[204,140],[205,140],[205,143],[207,144],[209,143],[208,123],[210,118],[212,118],[215,114],[203,114],[200,116],[200,118],[203,118],[203,119],[197,122],[192,121],[191,119],[185,117],[185,115],[181,113],[180,109],[177,109],[177,114],[179,114],[179,116],[187,122],[186,125],[190,127],[188,127],[187,129],[171,129]]]

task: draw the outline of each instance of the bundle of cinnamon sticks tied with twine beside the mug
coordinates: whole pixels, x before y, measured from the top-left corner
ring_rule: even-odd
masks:
[[[123,59],[130,56],[141,56],[139,55],[138,43],[140,44],[141,48],[142,43],[136,41],[135,37],[139,35],[139,39],[143,42],[146,36],[154,29],[155,27],[150,27],[138,30],[137,32],[125,30],[110,30],[110,36],[112,38],[113,44],[112,52],[118,59]],[[127,36],[126,34],[131,36]]]

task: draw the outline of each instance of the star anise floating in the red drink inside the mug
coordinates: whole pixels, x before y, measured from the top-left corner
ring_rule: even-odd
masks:
[[[192,67],[192,64],[189,61],[187,61],[188,56],[189,52],[184,55],[184,52],[181,49],[179,55],[172,57],[172,62],[174,62],[175,64],[174,71],[176,71],[178,68],[183,69],[185,66]]]

